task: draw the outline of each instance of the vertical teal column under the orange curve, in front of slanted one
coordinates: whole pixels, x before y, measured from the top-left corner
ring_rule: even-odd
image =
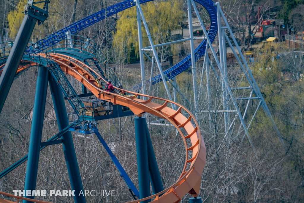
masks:
[[[137,170],[139,197],[146,198],[150,196],[150,181],[149,181],[149,164],[146,136],[146,117],[134,118],[135,137],[136,137],[136,155],[137,155]],[[150,200],[141,201],[141,203],[150,202]]]

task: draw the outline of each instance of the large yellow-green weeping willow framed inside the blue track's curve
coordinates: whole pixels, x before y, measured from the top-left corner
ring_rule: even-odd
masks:
[[[185,14],[182,2],[177,0],[148,2],[141,7],[155,45],[170,39],[171,31],[180,28],[179,23]],[[138,58],[139,53],[136,7],[119,13],[116,29],[113,32],[113,46],[126,51],[130,63],[130,55],[134,54]],[[143,24],[142,34],[143,46],[149,46]]]

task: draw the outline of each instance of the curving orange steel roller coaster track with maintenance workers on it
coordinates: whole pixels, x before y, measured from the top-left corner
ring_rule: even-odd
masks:
[[[141,116],[143,113],[147,112],[164,118],[181,134],[185,144],[186,158],[183,171],[178,180],[164,191],[128,203],[137,203],[148,199],[151,199],[153,202],[175,203],[181,201],[181,198],[187,193],[194,197],[199,194],[202,172],[206,163],[206,147],[198,123],[188,109],[168,99],[134,93],[117,87],[114,88],[121,91],[120,94],[104,91],[101,87],[101,82],[107,81],[84,62],[63,54],[49,53],[49,55],[39,55],[43,58],[51,56],[65,74],[69,74],[81,82],[97,98],[110,100],[114,105],[119,104],[129,107],[135,115]],[[30,62],[29,65],[19,66],[17,73],[34,65],[39,64]],[[93,71],[97,78],[89,73],[89,71]],[[133,96],[126,96],[124,93],[133,94]],[[142,98],[146,97],[147,100],[139,99],[137,96],[141,96]],[[169,107],[171,105],[178,106],[178,109],[171,109]],[[189,116],[186,117],[183,113],[188,113]],[[185,129],[187,135],[182,132],[182,128]],[[191,146],[188,146],[187,139],[190,139]],[[192,151],[192,153],[189,153],[189,151]],[[189,154],[192,154],[192,156]]]

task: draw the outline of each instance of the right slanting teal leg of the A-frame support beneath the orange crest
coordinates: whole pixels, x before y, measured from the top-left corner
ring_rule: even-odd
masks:
[[[69,125],[67,110],[64,104],[62,91],[58,87],[56,81],[53,80],[53,77],[50,78],[49,84],[56,113],[57,124],[60,131]],[[69,173],[71,189],[75,190],[74,201],[75,203],[85,203],[85,197],[83,195],[79,195],[80,191],[83,191],[83,186],[71,132],[67,131],[62,135],[61,139],[63,140],[62,148],[64,151],[65,161],[67,163],[67,171]]]

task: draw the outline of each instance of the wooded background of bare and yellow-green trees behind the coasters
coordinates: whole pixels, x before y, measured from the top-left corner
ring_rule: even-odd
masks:
[[[0,33],[2,40],[14,39],[22,22],[23,8],[26,0],[2,0],[0,2]],[[108,1],[108,5],[117,1]],[[284,19],[285,25],[293,28],[292,34],[304,31],[303,0],[221,0],[221,7],[237,36],[241,48],[246,51],[246,32],[254,30],[251,26],[257,23],[255,6],[261,6],[261,19],[271,20],[270,12],[277,12],[277,19]],[[154,1],[142,5],[151,36],[155,44],[170,41],[175,30],[183,31],[187,26],[186,3],[178,0]],[[41,26],[36,26],[31,37],[41,39],[67,25],[92,13],[104,9],[104,2],[97,0],[51,0],[50,16]],[[209,16],[199,7],[205,26]],[[192,10],[192,15],[195,16]],[[85,37],[95,37],[95,42],[106,56],[106,44],[109,46],[109,61],[116,67],[116,73],[126,88],[140,83],[137,25],[135,8],[128,9],[109,17],[109,40],[106,41],[105,22],[86,28],[79,32]],[[147,35],[142,30],[144,46],[148,46]],[[216,41],[216,40],[215,40]],[[199,105],[195,117],[199,122],[202,136],[207,148],[207,162],[202,176],[201,194],[203,202],[302,202],[304,199],[304,84],[303,57],[304,47],[290,48],[285,42],[265,43],[252,50],[255,62],[250,63],[257,84],[284,138],[287,152],[271,124],[260,109],[252,123],[249,133],[257,149],[255,154],[244,131],[235,123],[228,141],[225,135],[223,118],[218,115],[209,118],[202,112],[208,107],[206,98],[206,78],[198,77]],[[189,54],[186,43],[157,48],[163,69]],[[295,57],[295,55],[299,57]],[[150,76],[151,63],[145,61],[146,75]],[[198,76],[202,75],[202,61],[196,63]],[[234,87],[244,85],[238,66],[229,67],[229,80]],[[153,70],[153,75],[158,74]],[[0,171],[28,153],[31,129],[31,110],[34,103],[37,67],[31,68],[14,81],[5,106],[0,114]],[[148,78],[147,78],[148,79]],[[191,69],[184,71],[176,82],[189,100],[177,96],[179,103],[187,106],[192,112],[193,88]],[[80,84],[73,84],[76,91],[81,91]],[[214,80],[212,98],[220,101],[221,86]],[[170,87],[173,93],[173,87]],[[150,94],[167,98],[163,84],[152,86]],[[67,110],[72,111],[66,103]],[[221,107],[212,103],[214,109]],[[253,114],[254,105],[249,109]],[[208,109],[208,108],[207,108]],[[147,115],[147,121],[157,118]],[[250,118],[245,118],[248,122]],[[131,180],[137,183],[137,165],[135,150],[135,133],[133,116],[109,119],[99,122],[98,128],[111,149],[122,163]],[[161,122],[161,124],[168,124]],[[149,124],[158,166],[164,187],[173,184],[183,168],[185,153],[183,143],[175,129],[168,125]],[[43,127],[43,140],[58,132],[54,107],[47,93],[47,105]],[[97,137],[73,133],[73,140],[78,164],[85,190],[111,189],[115,197],[86,197],[87,202],[124,202],[132,197],[127,190],[118,170],[111,162]],[[0,191],[12,193],[22,190],[26,163],[0,179]],[[69,177],[65,166],[64,155],[60,145],[52,145],[40,154],[37,178],[37,190],[70,189]],[[185,196],[182,202],[188,202]],[[73,202],[72,198],[41,198],[51,202]]]

